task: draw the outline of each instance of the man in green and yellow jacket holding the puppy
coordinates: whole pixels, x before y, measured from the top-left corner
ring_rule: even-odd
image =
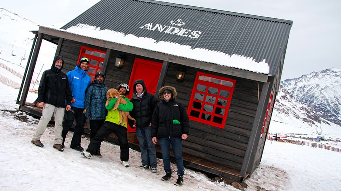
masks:
[[[125,97],[129,94],[129,86],[127,84],[120,84],[117,88],[120,96],[127,101],[127,104],[120,104],[118,106],[119,110],[122,111],[132,111],[133,110],[133,103]],[[122,125],[125,120],[121,124],[120,122],[120,114],[118,109],[113,110],[114,105],[117,101],[117,98],[113,98],[109,101],[108,106],[105,108],[108,110],[108,114],[105,117],[105,122],[101,126],[101,128],[97,131],[95,137],[90,140],[90,144],[86,151],[83,151],[81,154],[84,155],[86,158],[90,158],[93,154],[96,153],[96,150],[100,147],[101,142],[104,141],[111,133],[115,133],[118,139],[118,143],[121,149],[121,163],[125,167],[129,167],[129,146],[128,146],[128,138],[127,138],[127,124]]]

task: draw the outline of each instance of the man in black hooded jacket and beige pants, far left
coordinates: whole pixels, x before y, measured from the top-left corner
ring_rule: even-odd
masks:
[[[43,147],[40,137],[44,134],[48,122],[54,114],[55,118],[55,141],[53,148],[63,152],[62,148],[62,122],[65,112],[71,108],[71,88],[68,77],[61,72],[64,66],[64,59],[61,56],[56,56],[53,60],[51,69],[46,70],[42,74],[42,78],[38,88],[39,107],[43,108],[42,117],[35,129],[32,143],[36,146]]]

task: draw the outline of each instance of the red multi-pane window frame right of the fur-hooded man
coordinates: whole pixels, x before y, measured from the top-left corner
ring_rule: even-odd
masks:
[[[206,80],[202,80],[203,76],[204,78],[206,78]],[[199,79],[199,77],[202,79]],[[219,83],[214,83],[210,81],[212,79],[218,79],[220,80],[220,83],[223,81],[229,82],[229,83],[232,83],[232,85],[227,86],[227,85],[223,85]],[[198,84],[199,84],[199,87],[206,86],[206,89],[203,91],[198,90],[199,88]],[[235,84],[236,84],[236,80],[233,80],[233,79],[224,78],[220,76],[214,76],[212,74],[207,74],[203,72],[197,72],[196,77],[195,77],[195,82],[193,85],[193,89],[192,89],[189,106],[187,108],[189,119],[200,122],[200,123],[216,126],[219,128],[224,128]],[[210,93],[209,92],[210,89],[211,90],[217,89],[216,95]],[[223,91],[229,92],[228,97],[221,96],[220,93],[224,93]],[[195,98],[196,95],[203,96],[202,100]],[[207,99],[211,101],[208,102]],[[218,100],[226,101],[226,105],[225,105],[225,102],[224,104],[221,104],[221,102],[218,104]],[[198,109],[198,107],[194,108],[193,102],[195,102],[196,105],[200,103],[201,108],[200,109]],[[205,110],[205,107],[212,108],[212,111]],[[217,110],[217,108],[219,109]],[[220,113],[216,113],[217,111],[220,111],[220,113],[224,111],[224,113],[222,115]],[[199,113],[198,117],[193,116],[194,115],[193,113],[191,115],[191,112],[196,112],[196,114]],[[218,119],[218,120],[214,120],[214,119]],[[222,119],[221,122],[217,122],[217,121],[220,121],[220,119]]]

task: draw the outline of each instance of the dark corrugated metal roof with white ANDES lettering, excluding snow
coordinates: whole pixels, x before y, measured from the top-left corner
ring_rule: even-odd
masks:
[[[265,59],[273,75],[292,26],[292,21],[282,19],[151,0],[102,0],[61,29],[79,23],[192,49],[253,57],[255,62]]]

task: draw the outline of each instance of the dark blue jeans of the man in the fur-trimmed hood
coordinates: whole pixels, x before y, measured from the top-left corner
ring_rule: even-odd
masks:
[[[172,144],[173,147],[173,154],[176,165],[178,167],[178,175],[183,175],[184,171],[182,160],[182,139],[180,137],[160,139],[164,170],[166,173],[172,172],[172,170],[170,169],[170,144]]]

